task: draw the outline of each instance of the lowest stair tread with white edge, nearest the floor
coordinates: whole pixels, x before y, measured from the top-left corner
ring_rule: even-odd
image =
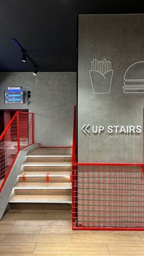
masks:
[[[15,195],[10,203],[71,203],[71,196]]]

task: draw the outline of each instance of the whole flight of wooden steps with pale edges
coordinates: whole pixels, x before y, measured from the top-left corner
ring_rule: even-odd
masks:
[[[71,148],[37,148],[26,156],[9,203],[71,204]]]

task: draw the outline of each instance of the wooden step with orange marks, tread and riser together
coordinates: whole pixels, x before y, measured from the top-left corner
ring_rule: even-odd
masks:
[[[20,182],[62,182],[69,183],[71,172],[22,172],[18,177]]]

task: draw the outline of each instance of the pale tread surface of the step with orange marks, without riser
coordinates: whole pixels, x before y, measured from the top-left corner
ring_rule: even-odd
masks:
[[[22,172],[19,177],[69,177],[71,172]]]

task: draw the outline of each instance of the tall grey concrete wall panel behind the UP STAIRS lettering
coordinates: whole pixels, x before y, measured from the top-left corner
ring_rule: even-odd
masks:
[[[109,125],[143,126],[144,90],[124,93],[123,89],[124,73],[135,62],[142,65],[134,67],[128,79],[144,78],[143,26],[144,15],[79,15],[79,162],[143,162],[143,133],[107,133]],[[93,58],[112,62],[110,93],[104,93],[109,92],[106,82],[110,83],[110,73],[106,81],[98,73],[91,73],[92,87]],[[85,124],[90,124],[89,135],[81,131]],[[104,126],[104,133],[94,135],[92,125]]]

